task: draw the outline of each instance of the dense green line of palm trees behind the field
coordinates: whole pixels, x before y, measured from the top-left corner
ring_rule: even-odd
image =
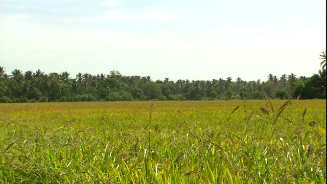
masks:
[[[325,99],[326,51],[318,74],[275,76],[267,81],[244,81],[238,77],[213,80],[153,81],[150,76],[125,76],[118,71],[91,75],[68,72],[44,74],[0,67],[0,102],[132,101],[132,100],[233,100],[233,99]]]

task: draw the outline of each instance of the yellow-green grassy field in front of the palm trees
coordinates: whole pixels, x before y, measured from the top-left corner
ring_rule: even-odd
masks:
[[[325,103],[0,104],[0,183],[325,183]]]

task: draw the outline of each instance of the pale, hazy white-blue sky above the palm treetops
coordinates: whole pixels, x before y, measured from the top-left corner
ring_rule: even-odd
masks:
[[[0,0],[0,66],[152,80],[318,73],[325,0]]]

